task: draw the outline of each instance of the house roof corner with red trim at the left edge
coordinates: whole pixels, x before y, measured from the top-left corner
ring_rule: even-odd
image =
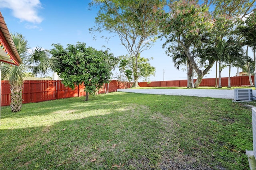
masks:
[[[19,66],[20,55],[9,33],[4,17],[0,12],[0,61]]]

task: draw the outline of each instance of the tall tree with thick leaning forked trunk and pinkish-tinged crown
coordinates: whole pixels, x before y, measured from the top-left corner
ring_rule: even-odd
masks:
[[[180,53],[186,55],[192,68],[198,74],[194,84],[198,87],[203,76],[212,67],[214,60],[208,59],[206,68],[201,70],[191,52],[202,46],[203,37],[209,35],[213,28],[210,13],[206,6],[199,5],[196,1],[175,1],[168,6],[170,13],[165,15],[162,23],[162,35],[166,38],[163,46],[171,44],[167,47],[168,53],[177,48],[181,49]]]

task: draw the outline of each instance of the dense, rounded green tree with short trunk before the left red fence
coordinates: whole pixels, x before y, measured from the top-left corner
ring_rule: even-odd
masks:
[[[111,79],[112,66],[108,63],[108,55],[104,51],[97,51],[92,47],[86,47],[85,43],[68,44],[64,49],[60,44],[53,44],[54,49],[50,50],[53,57],[58,57],[60,64],[53,70],[62,83],[72,89],[75,86],[84,84],[86,100],[89,94],[95,94],[104,83]]]

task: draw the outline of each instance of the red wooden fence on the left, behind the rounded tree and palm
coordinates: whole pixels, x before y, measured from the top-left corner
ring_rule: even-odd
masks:
[[[23,103],[85,96],[84,88],[84,85],[80,85],[72,90],[65,87],[61,80],[26,80],[23,83]],[[119,82],[118,80],[112,80],[109,86],[106,84],[108,92],[116,92],[118,88],[130,88],[130,86],[129,83]],[[1,106],[10,105],[10,93],[9,81],[1,81]],[[98,94],[103,93],[105,93],[104,86],[99,90]]]

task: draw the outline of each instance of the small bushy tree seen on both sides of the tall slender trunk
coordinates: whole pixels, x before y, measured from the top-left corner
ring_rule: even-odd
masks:
[[[140,57],[140,55],[137,57],[137,76],[138,78],[144,77],[146,80],[149,76],[154,76],[156,72],[156,68],[151,66],[149,63],[149,59]],[[153,58],[151,58],[153,59]],[[120,56],[119,57],[120,63],[119,63],[119,71],[122,72],[128,82],[134,82],[134,65],[136,62],[135,57],[129,57],[129,56]]]

